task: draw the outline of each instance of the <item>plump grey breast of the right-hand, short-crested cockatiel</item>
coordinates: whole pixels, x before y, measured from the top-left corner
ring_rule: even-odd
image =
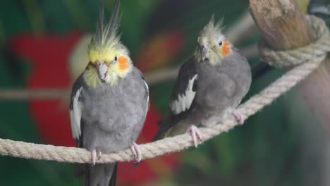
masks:
[[[216,66],[201,63],[198,66],[197,104],[211,112],[235,109],[247,94],[251,79],[249,63],[236,50]]]

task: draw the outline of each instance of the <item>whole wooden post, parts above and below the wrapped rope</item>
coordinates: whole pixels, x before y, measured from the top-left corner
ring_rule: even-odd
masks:
[[[276,50],[294,49],[313,42],[315,34],[295,0],[250,0],[250,13],[266,43]],[[329,58],[298,89],[330,132]]]

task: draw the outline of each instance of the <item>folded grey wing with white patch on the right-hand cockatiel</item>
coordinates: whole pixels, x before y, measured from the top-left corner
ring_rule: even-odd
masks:
[[[196,95],[197,67],[194,58],[181,66],[176,85],[170,100],[170,109],[173,115],[178,115],[190,109]]]

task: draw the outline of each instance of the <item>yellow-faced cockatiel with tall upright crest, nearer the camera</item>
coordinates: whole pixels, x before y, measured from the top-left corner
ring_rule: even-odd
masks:
[[[85,169],[85,185],[116,184],[116,163],[95,164],[102,153],[130,149],[136,161],[141,151],[135,143],[148,110],[148,87],[129,51],[117,35],[119,1],[104,25],[104,7],[99,1],[97,31],[88,46],[85,71],[75,80],[70,115],[73,137],[92,154]]]

